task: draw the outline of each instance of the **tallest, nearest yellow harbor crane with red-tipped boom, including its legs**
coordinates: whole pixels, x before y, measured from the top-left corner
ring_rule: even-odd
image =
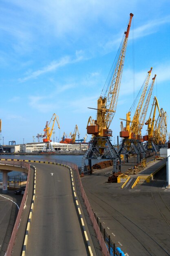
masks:
[[[105,84],[102,93],[97,100],[97,119],[89,117],[87,124],[87,134],[92,135],[90,146],[82,158],[82,173],[84,173],[85,160],[91,169],[92,159],[113,159],[113,172],[120,168],[120,156],[110,142],[112,130],[109,128],[116,112],[117,100],[121,83],[121,76],[124,67],[124,59],[128,36],[133,14],[130,13],[127,30],[124,32],[124,40],[119,47],[115,66],[110,70],[108,83]]]

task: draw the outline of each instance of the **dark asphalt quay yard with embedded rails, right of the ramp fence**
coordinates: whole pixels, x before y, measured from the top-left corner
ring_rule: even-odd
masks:
[[[166,168],[154,181],[121,189],[107,183],[106,170],[82,178],[93,211],[126,256],[170,255],[170,190]]]

